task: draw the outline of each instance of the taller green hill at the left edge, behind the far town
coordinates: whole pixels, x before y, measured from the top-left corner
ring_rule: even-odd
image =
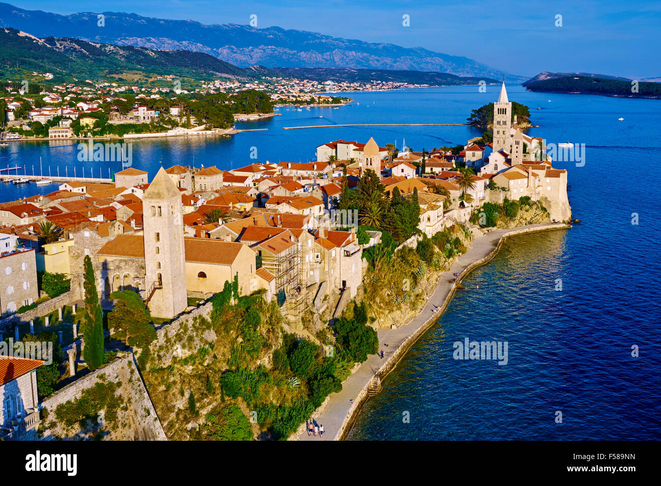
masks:
[[[114,46],[75,38],[36,38],[13,28],[0,28],[0,78],[17,79],[17,71],[50,72],[69,80],[104,81],[169,76],[191,79],[255,77],[252,71],[202,52],[161,51]],[[57,81],[57,79],[56,79]]]

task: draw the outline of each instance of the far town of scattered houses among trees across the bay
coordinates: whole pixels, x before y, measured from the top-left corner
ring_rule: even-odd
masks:
[[[33,75],[43,77],[44,81],[53,77],[51,73],[34,72]],[[188,90],[181,89],[177,84],[180,81],[174,76],[160,76],[156,81],[163,83],[164,87],[139,87],[87,79],[29,93],[23,83],[9,81],[3,87],[5,96],[0,97],[0,109],[5,116],[3,120],[7,122],[7,133],[0,138],[11,141],[32,137],[71,139],[93,136],[93,129],[106,125],[106,122],[124,126],[125,133],[145,132],[136,126],[139,124],[147,124],[152,131],[163,132],[165,128],[157,124],[165,124],[177,134],[215,134],[219,132],[218,127],[210,126],[204,120],[198,122],[195,114],[191,114],[178,97],[193,97],[192,100],[195,100],[196,96],[258,91],[264,93],[273,106],[334,106],[350,99],[325,95],[324,92],[382,91],[424,86],[391,81],[350,83],[264,77],[259,81],[217,79]],[[36,83],[34,85],[38,86]],[[125,106],[129,100],[134,102],[131,106]],[[241,112],[235,118],[252,120],[254,115],[268,113],[272,113],[271,106],[265,113]],[[0,125],[3,120],[0,120]]]

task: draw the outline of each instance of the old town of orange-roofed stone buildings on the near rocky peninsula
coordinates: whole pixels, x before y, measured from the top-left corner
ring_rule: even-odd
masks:
[[[318,85],[310,88],[319,91]],[[137,98],[147,96],[153,95]],[[67,99],[57,93],[48,97],[54,104]],[[9,112],[20,109],[11,101],[7,106]],[[46,123],[61,116],[49,136],[67,138],[71,128],[63,120],[75,116],[82,122],[98,109],[97,100],[72,108],[48,105],[30,110],[30,119]],[[175,116],[175,108],[169,109]],[[155,116],[145,106],[131,114],[139,120]],[[388,259],[410,253],[418,276],[428,272],[438,278],[490,231],[566,223],[572,217],[566,170],[553,167],[543,139],[528,136],[516,117],[512,120],[504,83],[494,103],[490,142],[469,140],[460,151],[398,151],[373,138],[334,140],[320,143],[316,155],[315,161],[249,163],[229,171],[180,161],[162,167],[151,180],[147,172],[128,167],[114,174],[112,184],[70,178],[50,194],[0,202],[0,343],[19,343],[53,329],[61,348],[48,394],[40,391],[38,378],[45,356],[0,357],[0,438],[91,438],[94,432],[62,425],[65,410],[88,399],[90,387],[118,380],[126,380],[124,397],[131,405],[116,413],[130,415],[125,419],[133,425],[118,426],[111,438],[202,438],[219,416],[213,404],[219,386],[223,397],[236,399],[233,410],[240,409],[251,438],[265,430],[270,438],[295,438],[311,412],[342,389],[342,381],[367,358],[364,350],[354,352],[342,327],[360,324],[368,341],[377,339],[379,329],[401,327],[378,305],[366,309],[362,296],[389,305],[416,299],[399,313],[406,321],[434,293],[422,278],[401,298],[392,288],[378,287]],[[11,176],[4,177],[11,183]],[[388,212],[401,219],[387,223]],[[45,292],[46,282],[68,283],[54,296]],[[149,330],[113,328],[118,300],[126,308],[146,309]],[[87,309],[94,305],[107,319],[101,341],[112,356],[89,366]],[[236,335],[228,331],[231,319],[221,310],[247,323],[251,306],[260,309],[261,317],[253,316],[258,324],[240,326]],[[147,334],[151,341],[141,341]],[[222,336],[231,337],[226,350],[217,344]],[[311,343],[310,359],[319,364],[314,372],[298,371],[301,342]],[[339,373],[340,362],[332,361],[333,346],[342,351],[346,372]],[[383,353],[381,346],[378,340],[371,343],[368,354]],[[219,382],[207,370],[206,382],[196,385],[202,386],[199,393],[193,385],[184,390],[183,382],[175,387],[161,382],[177,373],[176,366],[211,369],[220,361]],[[331,362],[334,371],[324,368]],[[139,378],[129,381],[134,370],[145,377],[144,384]],[[282,373],[282,385],[263,378],[268,370]],[[286,389],[282,399],[291,405],[256,399],[260,389],[247,384],[257,373],[264,387]],[[295,411],[301,396],[309,397],[303,411],[278,415],[276,408]],[[206,415],[198,411],[202,397],[209,402]],[[258,419],[249,422],[257,406],[262,407]]]

